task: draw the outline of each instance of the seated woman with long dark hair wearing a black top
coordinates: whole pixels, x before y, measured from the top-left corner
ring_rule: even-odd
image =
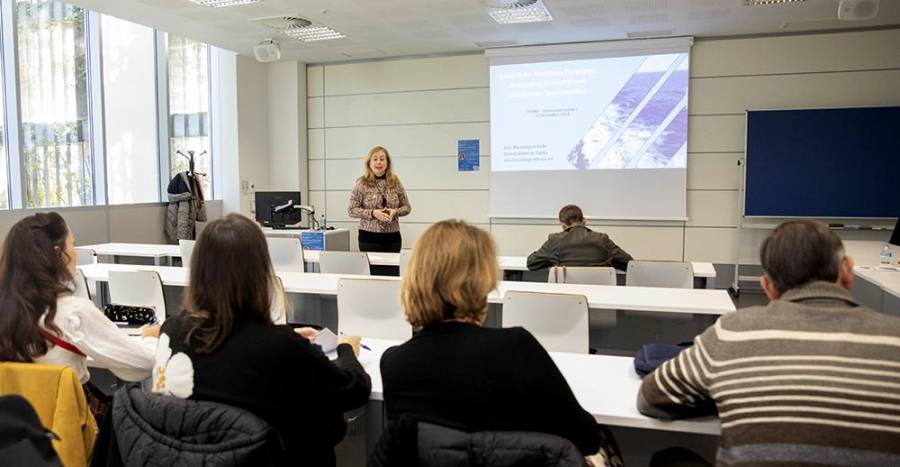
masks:
[[[272,322],[276,281],[262,230],[230,214],[194,246],[184,310],[162,327],[153,390],[240,407],[280,435],[283,465],[334,465],[343,413],[366,403],[371,383],[356,359],[359,337],[341,336],[334,362]]]

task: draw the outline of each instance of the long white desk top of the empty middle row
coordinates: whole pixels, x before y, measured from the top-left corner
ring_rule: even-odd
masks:
[[[79,266],[87,280],[106,281],[109,271],[157,271],[164,285],[184,287],[188,283],[188,269],[168,266],[131,264],[88,264]],[[341,277],[368,278],[346,274],[321,274],[279,271],[285,292],[336,295]],[[400,280],[384,277],[384,280]],[[549,292],[584,295],[593,309],[661,311],[667,313],[697,313],[721,315],[734,311],[734,303],[724,290],[669,289],[662,287],[619,287],[610,285],[547,284],[540,282],[501,281],[497,290],[488,296],[490,303],[502,303],[507,290]]]

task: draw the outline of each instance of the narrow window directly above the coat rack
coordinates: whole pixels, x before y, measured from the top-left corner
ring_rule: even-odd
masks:
[[[188,160],[177,154],[193,151],[194,171],[200,177],[205,198],[211,198],[212,156],[209,154],[209,46],[169,34],[169,143],[170,174],[188,169]],[[201,155],[203,152],[206,154]]]

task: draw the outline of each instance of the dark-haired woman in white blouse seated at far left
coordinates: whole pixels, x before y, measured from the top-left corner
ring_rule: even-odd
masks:
[[[92,366],[139,381],[150,376],[159,327],[129,337],[94,303],[72,296],[75,238],[55,212],[28,216],[0,255],[0,361],[72,367],[82,384]]]

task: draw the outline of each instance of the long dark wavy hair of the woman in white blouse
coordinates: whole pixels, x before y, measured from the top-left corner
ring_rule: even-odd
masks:
[[[28,216],[12,227],[0,254],[0,360],[31,362],[47,353],[38,332],[59,334],[53,323],[56,298],[71,292],[72,273],[66,254],[69,227],[55,212]]]

